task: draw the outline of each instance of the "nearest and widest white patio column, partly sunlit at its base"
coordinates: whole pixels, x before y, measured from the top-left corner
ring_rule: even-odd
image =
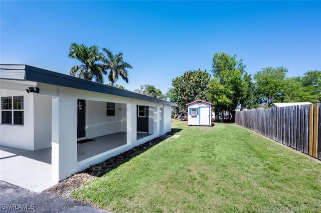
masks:
[[[57,182],[77,168],[77,97],[72,93],[60,90],[52,97],[51,141],[52,180]]]

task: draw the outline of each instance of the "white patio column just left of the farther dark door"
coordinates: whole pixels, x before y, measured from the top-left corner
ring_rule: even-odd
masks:
[[[137,140],[137,104],[133,101],[127,103],[127,144]]]

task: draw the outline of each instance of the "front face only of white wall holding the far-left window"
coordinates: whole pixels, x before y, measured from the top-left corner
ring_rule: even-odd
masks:
[[[1,97],[24,96],[24,125],[0,124],[0,145],[34,150],[34,94],[27,93],[26,88],[28,85],[17,85],[17,90],[1,88]]]

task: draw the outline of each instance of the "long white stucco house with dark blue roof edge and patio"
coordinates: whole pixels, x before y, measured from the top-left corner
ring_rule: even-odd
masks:
[[[1,64],[0,87],[0,145],[51,150],[55,182],[171,131],[177,106],[30,65]]]

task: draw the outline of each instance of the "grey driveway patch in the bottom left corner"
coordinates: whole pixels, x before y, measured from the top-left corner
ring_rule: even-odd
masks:
[[[0,180],[0,212],[106,212],[56,194],[33,192]]]

